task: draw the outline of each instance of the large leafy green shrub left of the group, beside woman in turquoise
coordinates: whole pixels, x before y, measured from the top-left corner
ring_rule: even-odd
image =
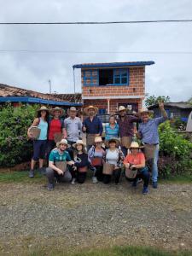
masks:
[[[7,104],[0,109],[0,166],[15,166],[32,157],[32,141],[26,131],[34,119],[38,106],[18,108]]]

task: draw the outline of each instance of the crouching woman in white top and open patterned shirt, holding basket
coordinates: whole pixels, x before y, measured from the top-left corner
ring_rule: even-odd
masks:
[[[108,149],[104,156],[105,163],[103,165],[103,183],[110,183],[111,178],[114,176],[114,183],[119,183],[121,164],[125,159],[125,156],[121,150],[119,150],[120,141],[116,137],[112,137],[108,140]]]

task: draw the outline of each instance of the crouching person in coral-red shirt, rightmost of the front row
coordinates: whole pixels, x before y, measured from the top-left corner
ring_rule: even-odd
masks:
[[[137,142],[132,142],[130,146],[131,153],[127,154],[124,160],[125,177],[128,181],[132,182],[132,187],[137,187],[138,179],[143,179],[143,194],[148,194],[149,172],[148,167],[145,165],[145,157],[143,152],[140,151]]]

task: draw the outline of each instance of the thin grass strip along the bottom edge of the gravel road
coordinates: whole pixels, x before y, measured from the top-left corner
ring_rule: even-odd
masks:
[[[85,249],[78,253],[66,253],[66,251],[38,251],[30,253],[30,256],[191,256],[192,252],[168,252],[154,247],[109,247],[102,249]]]

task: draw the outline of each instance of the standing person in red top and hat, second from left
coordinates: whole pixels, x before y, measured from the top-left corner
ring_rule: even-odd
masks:
[[[64,130],[64,123],[61,117],[64,114],[64,110],[59,107],[52,108],[49,112],[52,115],[52,119],[49,119],[49,133],[47,143],[47,160],[49,160],[50,151],[55,148],[55,134],[62,134],[62,137],[66,137]]]

